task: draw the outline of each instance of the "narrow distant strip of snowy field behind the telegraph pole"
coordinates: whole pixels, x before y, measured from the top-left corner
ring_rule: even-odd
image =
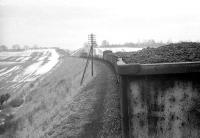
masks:
[[[94,52],[96,55],[103,56],[103,52],[106,50],[110,50],[113,53],[116,53],[116,52],[134,52],[134,51],[142,50],[142,48],[132,48],[132,47],[111,47],[111,48],[106,47],[104,48],[103,47],[103,48],[95,48]]]

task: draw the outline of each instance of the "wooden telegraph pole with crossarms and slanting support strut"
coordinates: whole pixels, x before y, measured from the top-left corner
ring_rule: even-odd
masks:
[[[93,67],[93,56],[94,56],[93,50],[94,50],[94,48],[93,47],[96,45],[95,35],[94,34],[88,35],[88,44],[90,45],[90,51],[88,53],[87,61],[86,61],[86,64],[85,64],[85,68],[84,68],[84,71],[83,71],[83,75],[82,75],[80,84],[83,83],[83,79],[84,79],[85,72],[86,72],[86,69],[87,69],[87,66],[88,66],[90,58],[91,58],[91,74],[92,74],[92,76],[94,74],[94,67]]]

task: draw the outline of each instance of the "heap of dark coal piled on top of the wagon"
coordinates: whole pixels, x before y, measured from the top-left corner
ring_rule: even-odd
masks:
[[[182,42],[137,52],[118,52],[125,63],[168,63],[200,61],[200,43]]]

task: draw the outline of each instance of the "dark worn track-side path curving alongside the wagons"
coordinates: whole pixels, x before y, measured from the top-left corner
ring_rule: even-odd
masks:
[[[86,87],[97,97],[84,125],[80,138],[120,137],[119,87],[114,72],[108,65],[96,62],[97,76]]]

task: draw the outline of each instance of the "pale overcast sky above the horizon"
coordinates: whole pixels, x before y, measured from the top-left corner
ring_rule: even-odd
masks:
[[[77,49],[98,44],[199,41],[198,0],[0,0],[0,44]]]

